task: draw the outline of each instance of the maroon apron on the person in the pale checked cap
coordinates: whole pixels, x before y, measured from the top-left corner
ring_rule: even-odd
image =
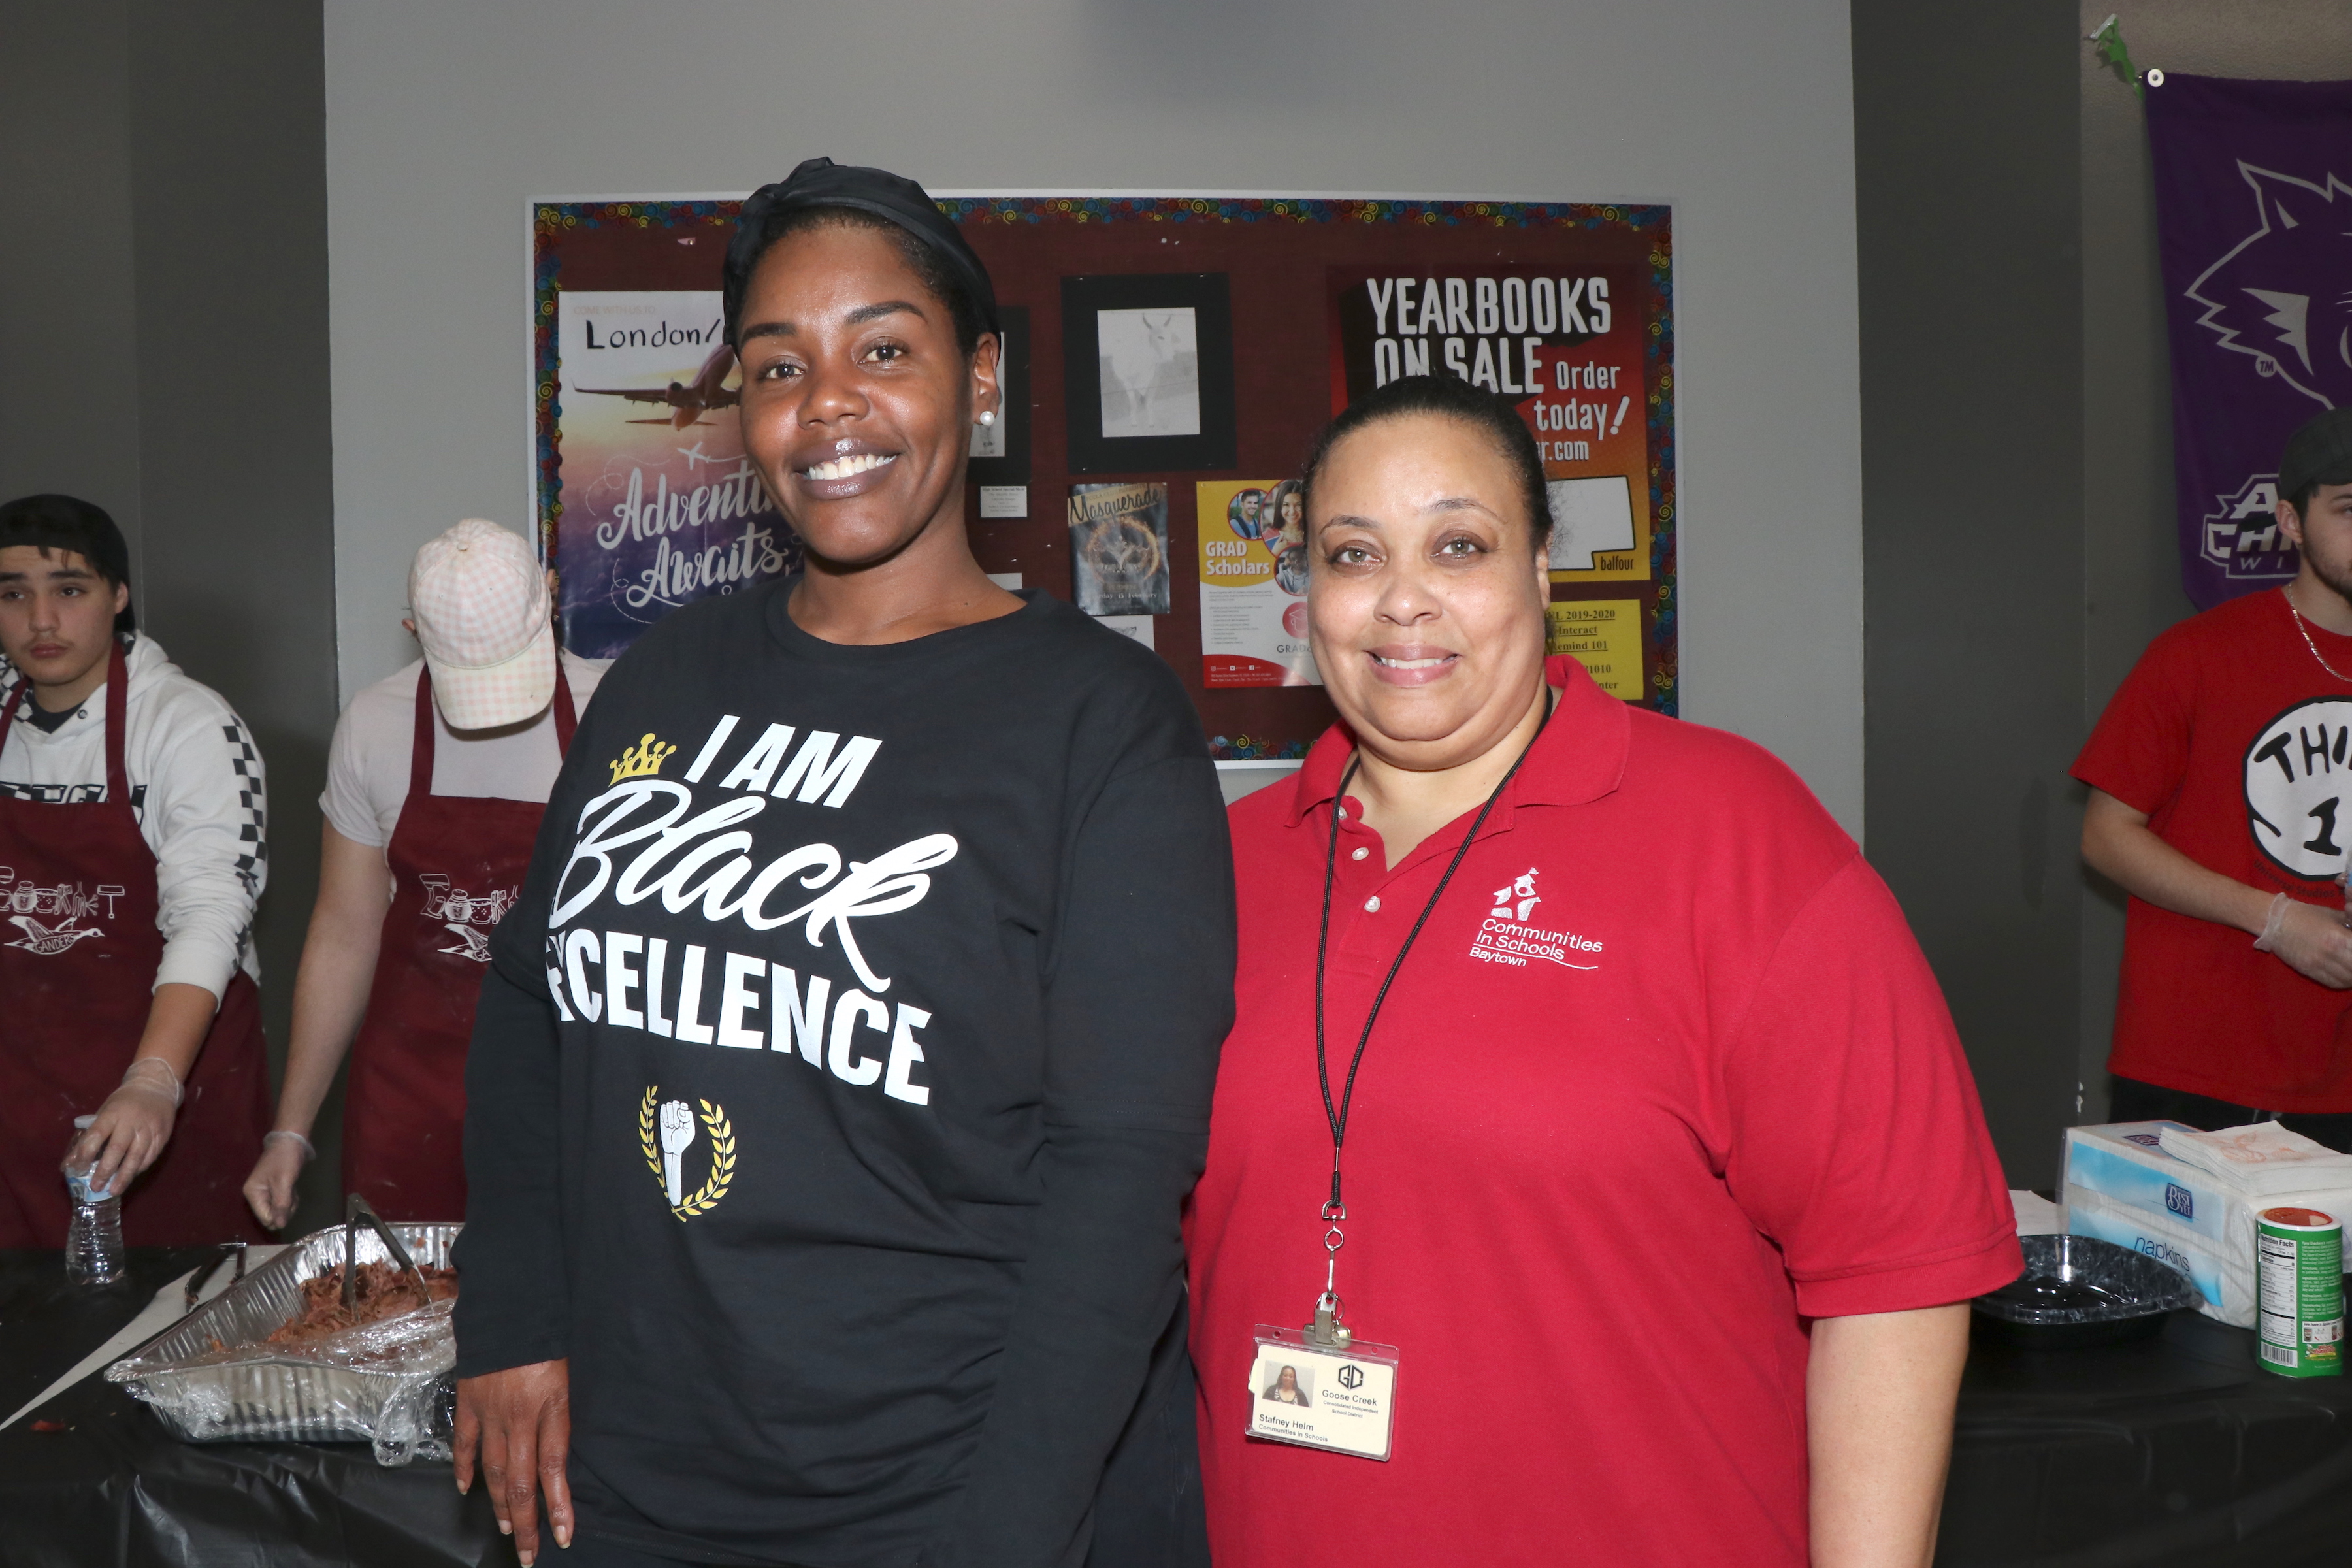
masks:
[[[572,684],[555,663],[555,745],[572,750]],[[433,675],[416,672],[409,797],[383,860],[376,980],[343,1088],[343,1192],[386,1220],[466,1218],[466,1044],[489,933],[515,907],[546,806],[433,792]]]

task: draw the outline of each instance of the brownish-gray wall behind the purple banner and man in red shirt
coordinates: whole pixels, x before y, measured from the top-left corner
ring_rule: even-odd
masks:
[[[2112,7],[2086,0],[2079,33]],[[2187,75],[2352,78],[2343,0],[2147,0],[2122,16],[2138,68]],[[2173,404],[2157,277],[2157,209],[2140,99],[2089,49],[2082,78],[2084,733],[2147,639],[2192,614],[2173,543]],[[2161,92],[2161,87],[2157,89]],[[2077,785],[2065,820],[2079,827]],[[2107,1032],[2124,959],[2124,898],[2084,872],[2084,1121],[2107,1105]]]

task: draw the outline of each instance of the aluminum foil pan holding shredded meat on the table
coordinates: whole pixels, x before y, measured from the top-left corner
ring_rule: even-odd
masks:
[[[393,1225],[419,1265],[449,1265],[461,1225]],[[390,1262],[372,1229],[360,1262]],[[141,1352],[106,1368],[191,1443],[374,1443],[383,1465],[449,1458],[456,1335],[447,1302],[318,1345],[268,1345],[306,1279],[343,1262],[343,1227],[303,1237]]]

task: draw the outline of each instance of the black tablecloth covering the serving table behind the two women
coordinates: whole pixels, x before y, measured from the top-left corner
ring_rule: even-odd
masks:
[[[0,1253],[0,1418],[209,1255],[134,1253],[127,1284],[78,1291],[59,1253]],[[383,1469],[365,1443],[181,1443],[101,1378],[0,1432],[0,1566],[191,1561],[435,1568],[515,1554],[482,1488],[459,1497],[447,1465]],[[2258,1371],[2251,1333],[2185,1312],[2140,1345],[1978,1345],[1936,1561],[2352,1561],[2352,1380]]]

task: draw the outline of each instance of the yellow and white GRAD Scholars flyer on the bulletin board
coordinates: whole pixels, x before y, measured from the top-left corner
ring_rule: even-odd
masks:
[[[1202,686],[1319,686],[1298,480],[1214,480],[1195,494]]]

